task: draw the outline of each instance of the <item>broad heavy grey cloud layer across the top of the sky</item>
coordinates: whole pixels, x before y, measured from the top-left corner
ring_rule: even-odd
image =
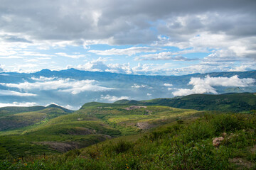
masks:
[[[9,10],[1,11],[0,23],[1,30],[16,41],[112,39],[112,43],[120,45],[151,42],[161,34],[174,42],[186,42],[202,31],[233,37],[255,35],[254,6],[255,1],[233,1],[230,5],[220,0],[97,0],[71,4],[16,0],[1,4],[1,8]]]

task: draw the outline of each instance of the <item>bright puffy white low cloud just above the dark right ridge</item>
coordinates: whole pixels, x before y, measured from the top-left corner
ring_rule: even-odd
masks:
[[[213,86],[238,86],[246,87],[252,86],[255,83],[255,79],[239,79],[239,77],[209,77],[206,76],[204,79],[198,77],[192,77],[188,85],[192,85],[193,89],[178,89],[172,94],[174,96],[185,96],[189,94],[218,94]]]

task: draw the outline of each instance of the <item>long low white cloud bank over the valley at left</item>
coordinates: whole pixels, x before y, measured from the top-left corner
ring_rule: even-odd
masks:
[[[2,86],[7,86],[9,88],[17,88],[21,90],[31,91],[31,90],[58,90],[62,92],[68,92],[71,94],[80,94],[83,91],[110,91],[114,88],[104,87],[97,85],[95,80],[75,80],[75,79],[55,79],[55,78],[46,78],[40,77],[33,78],[38,80],[36,82],[23,82],[20,84],[6,84],[0,83]]]

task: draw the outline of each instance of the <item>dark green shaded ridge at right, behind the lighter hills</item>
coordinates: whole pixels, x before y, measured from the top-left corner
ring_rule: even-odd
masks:
[[[121,100],[115,103],[136,105],[159,105],[174,108],[189,108],[198,111],[230,111],[242,112],[256,110],[256,95],[242,94],[192,94],[176,98],[156,98],[149,101]]]

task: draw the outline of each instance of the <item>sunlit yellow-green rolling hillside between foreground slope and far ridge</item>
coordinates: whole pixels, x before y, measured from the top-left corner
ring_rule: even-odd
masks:
[[[28,116],[31,121],[36,121],[44,118],[49,109],[59,108],[46,108],[38,113],[19,113],[12,116],[16,116],[16,121],[19,120],[18,116]],[[74,113],[49,118],[47,122],[41,121],[40,125],[33,124],[20,130],[2,132],[0,143],[5,151],[2,155],[25,157],[28,154],[66,152],[112,137],[136,135],[176,120],[193,119],[199,114],[201,113],[195,110],[167,106],[86,103]]]

